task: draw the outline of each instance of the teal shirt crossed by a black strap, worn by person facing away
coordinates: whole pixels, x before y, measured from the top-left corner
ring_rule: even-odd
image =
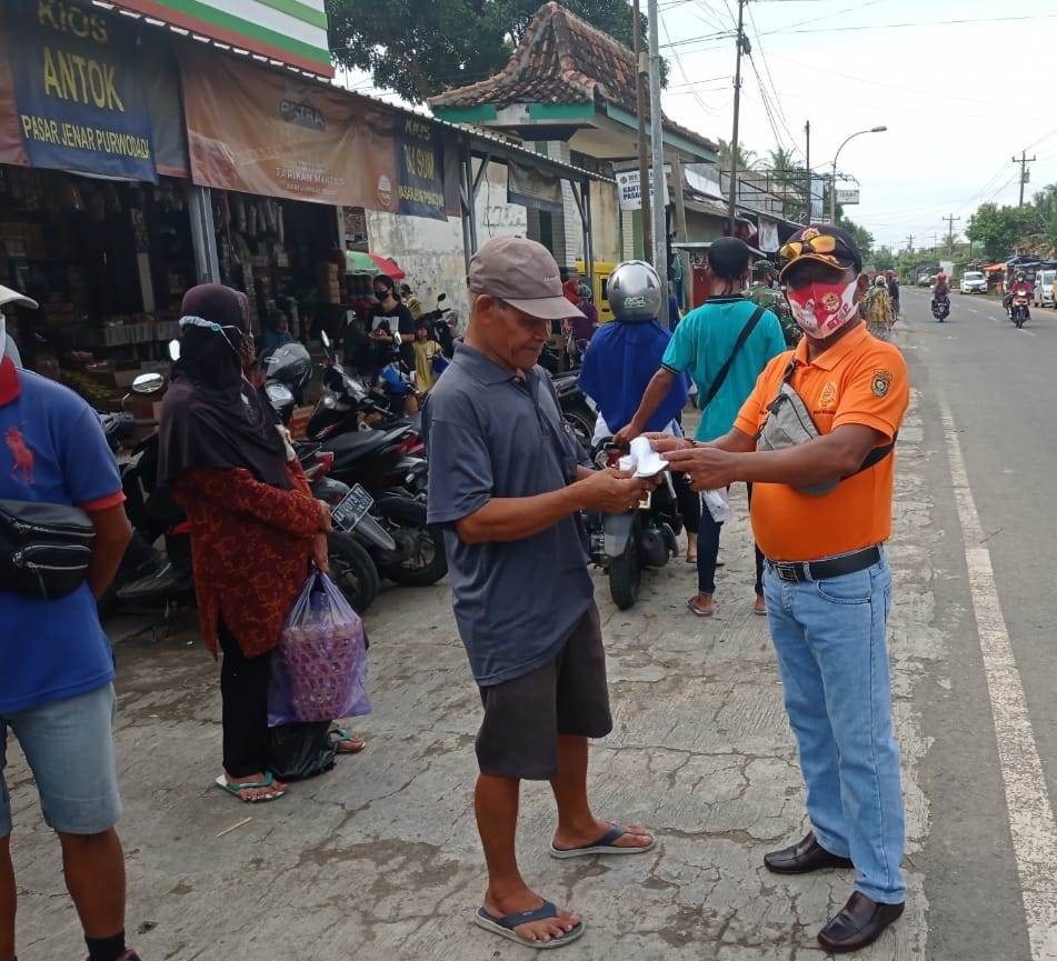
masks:
[[[738,334],[755,310],[756,304],[740,294],[710,297],[679,321],[665,351],[662,366],[672,373],[690,373],[697,384],[699,404],[708,396],[712,380],[727,362]],[[697,440],[716,440],[730,431],[767,362],[785,350],[781,323],[771,311],[765,310],[730,364],[719,392],[707,410],[701,411],[695,434]]]

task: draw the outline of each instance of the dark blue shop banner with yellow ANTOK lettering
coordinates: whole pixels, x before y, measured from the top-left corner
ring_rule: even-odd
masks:
[[[157,181],[132,24],[53,0],[14,0],[7,24],[30,164]]]

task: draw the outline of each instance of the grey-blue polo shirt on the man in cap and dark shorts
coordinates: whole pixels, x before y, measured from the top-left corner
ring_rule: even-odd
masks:
[[[457,344],[422,417],[429,522],[445,527],[451,594],[470,668],[487,687],[551,660],[595,594],[578,515],[520,541],[465,544],[455,521],[491,498],[559,490],[578,446],[542,368],[522,382]]]

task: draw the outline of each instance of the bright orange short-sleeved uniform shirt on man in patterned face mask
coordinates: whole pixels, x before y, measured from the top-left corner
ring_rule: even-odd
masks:
[[[735,427],[750,437],[767,420],[781,377],[796,354],[789,383],[811,412],[820,434],[846,423],[871,427],[890,441],[903,423],[910,382],[903,354],[871,337],[865,327],[837,341],[814,361],[808,339],[776,357],[759,376]],[[772,561],[811,561],[868,548],[891,534],[895,452],[868,470],[841,481],[822,497],[788,484],[752,487],[752,532]]]

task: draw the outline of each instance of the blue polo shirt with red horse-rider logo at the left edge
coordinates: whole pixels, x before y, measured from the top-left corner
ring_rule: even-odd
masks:
[[[96,412],[71,390],[0,363],[0,499],[106,510],[124,500]],[[0,590],[0,717],[113,679],[88,584],[57,600]]]

